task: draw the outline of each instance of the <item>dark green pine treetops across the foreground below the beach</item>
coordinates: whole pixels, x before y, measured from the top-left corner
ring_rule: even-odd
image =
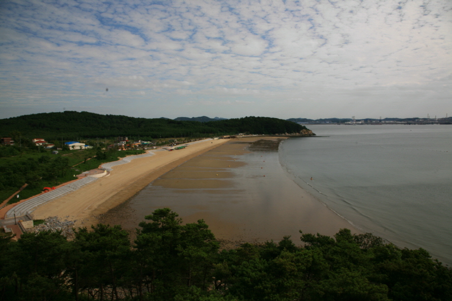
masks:
[[[120,226],[0,240],[0,300],[446,301],[452,271],[424,249],[342,229],[333,238],[220,249],[203,220],[158,209],[131,242]],[[299,246],[304,244],[304,246]]]

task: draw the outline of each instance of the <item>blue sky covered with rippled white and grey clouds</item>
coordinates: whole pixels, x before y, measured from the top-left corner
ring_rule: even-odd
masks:
[[[439,118],[451,51],[451,0],[1,0],[0,118]]]

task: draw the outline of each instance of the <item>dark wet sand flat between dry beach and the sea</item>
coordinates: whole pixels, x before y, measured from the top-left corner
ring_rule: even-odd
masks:
[[[186,223],[204,219],[217,239],[280,241],[300,233],[360,233],[288,178],[278,137],[232,139],[171,169],[101,221],[133,232],[144,216],[170,208]]]

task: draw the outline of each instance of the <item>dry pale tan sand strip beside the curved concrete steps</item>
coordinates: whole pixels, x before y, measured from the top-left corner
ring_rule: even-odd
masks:
[[[84,186],[61,198],[50,201],[32,212],[35,219],[58,216],[76,220],[76,226],[99,223],[97,216],[133,197],[151,181],[199,154],[226,143],[209,140],[183,150],[155,151],[150,157],[137,158],[113,167],[110,176]]]

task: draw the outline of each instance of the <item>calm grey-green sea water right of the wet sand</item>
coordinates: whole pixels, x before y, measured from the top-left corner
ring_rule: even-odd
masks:
[[[357,228],[452,265],[451,125],[312,125],[280,163]],[[312,178],[312,180],[311,180]]]

